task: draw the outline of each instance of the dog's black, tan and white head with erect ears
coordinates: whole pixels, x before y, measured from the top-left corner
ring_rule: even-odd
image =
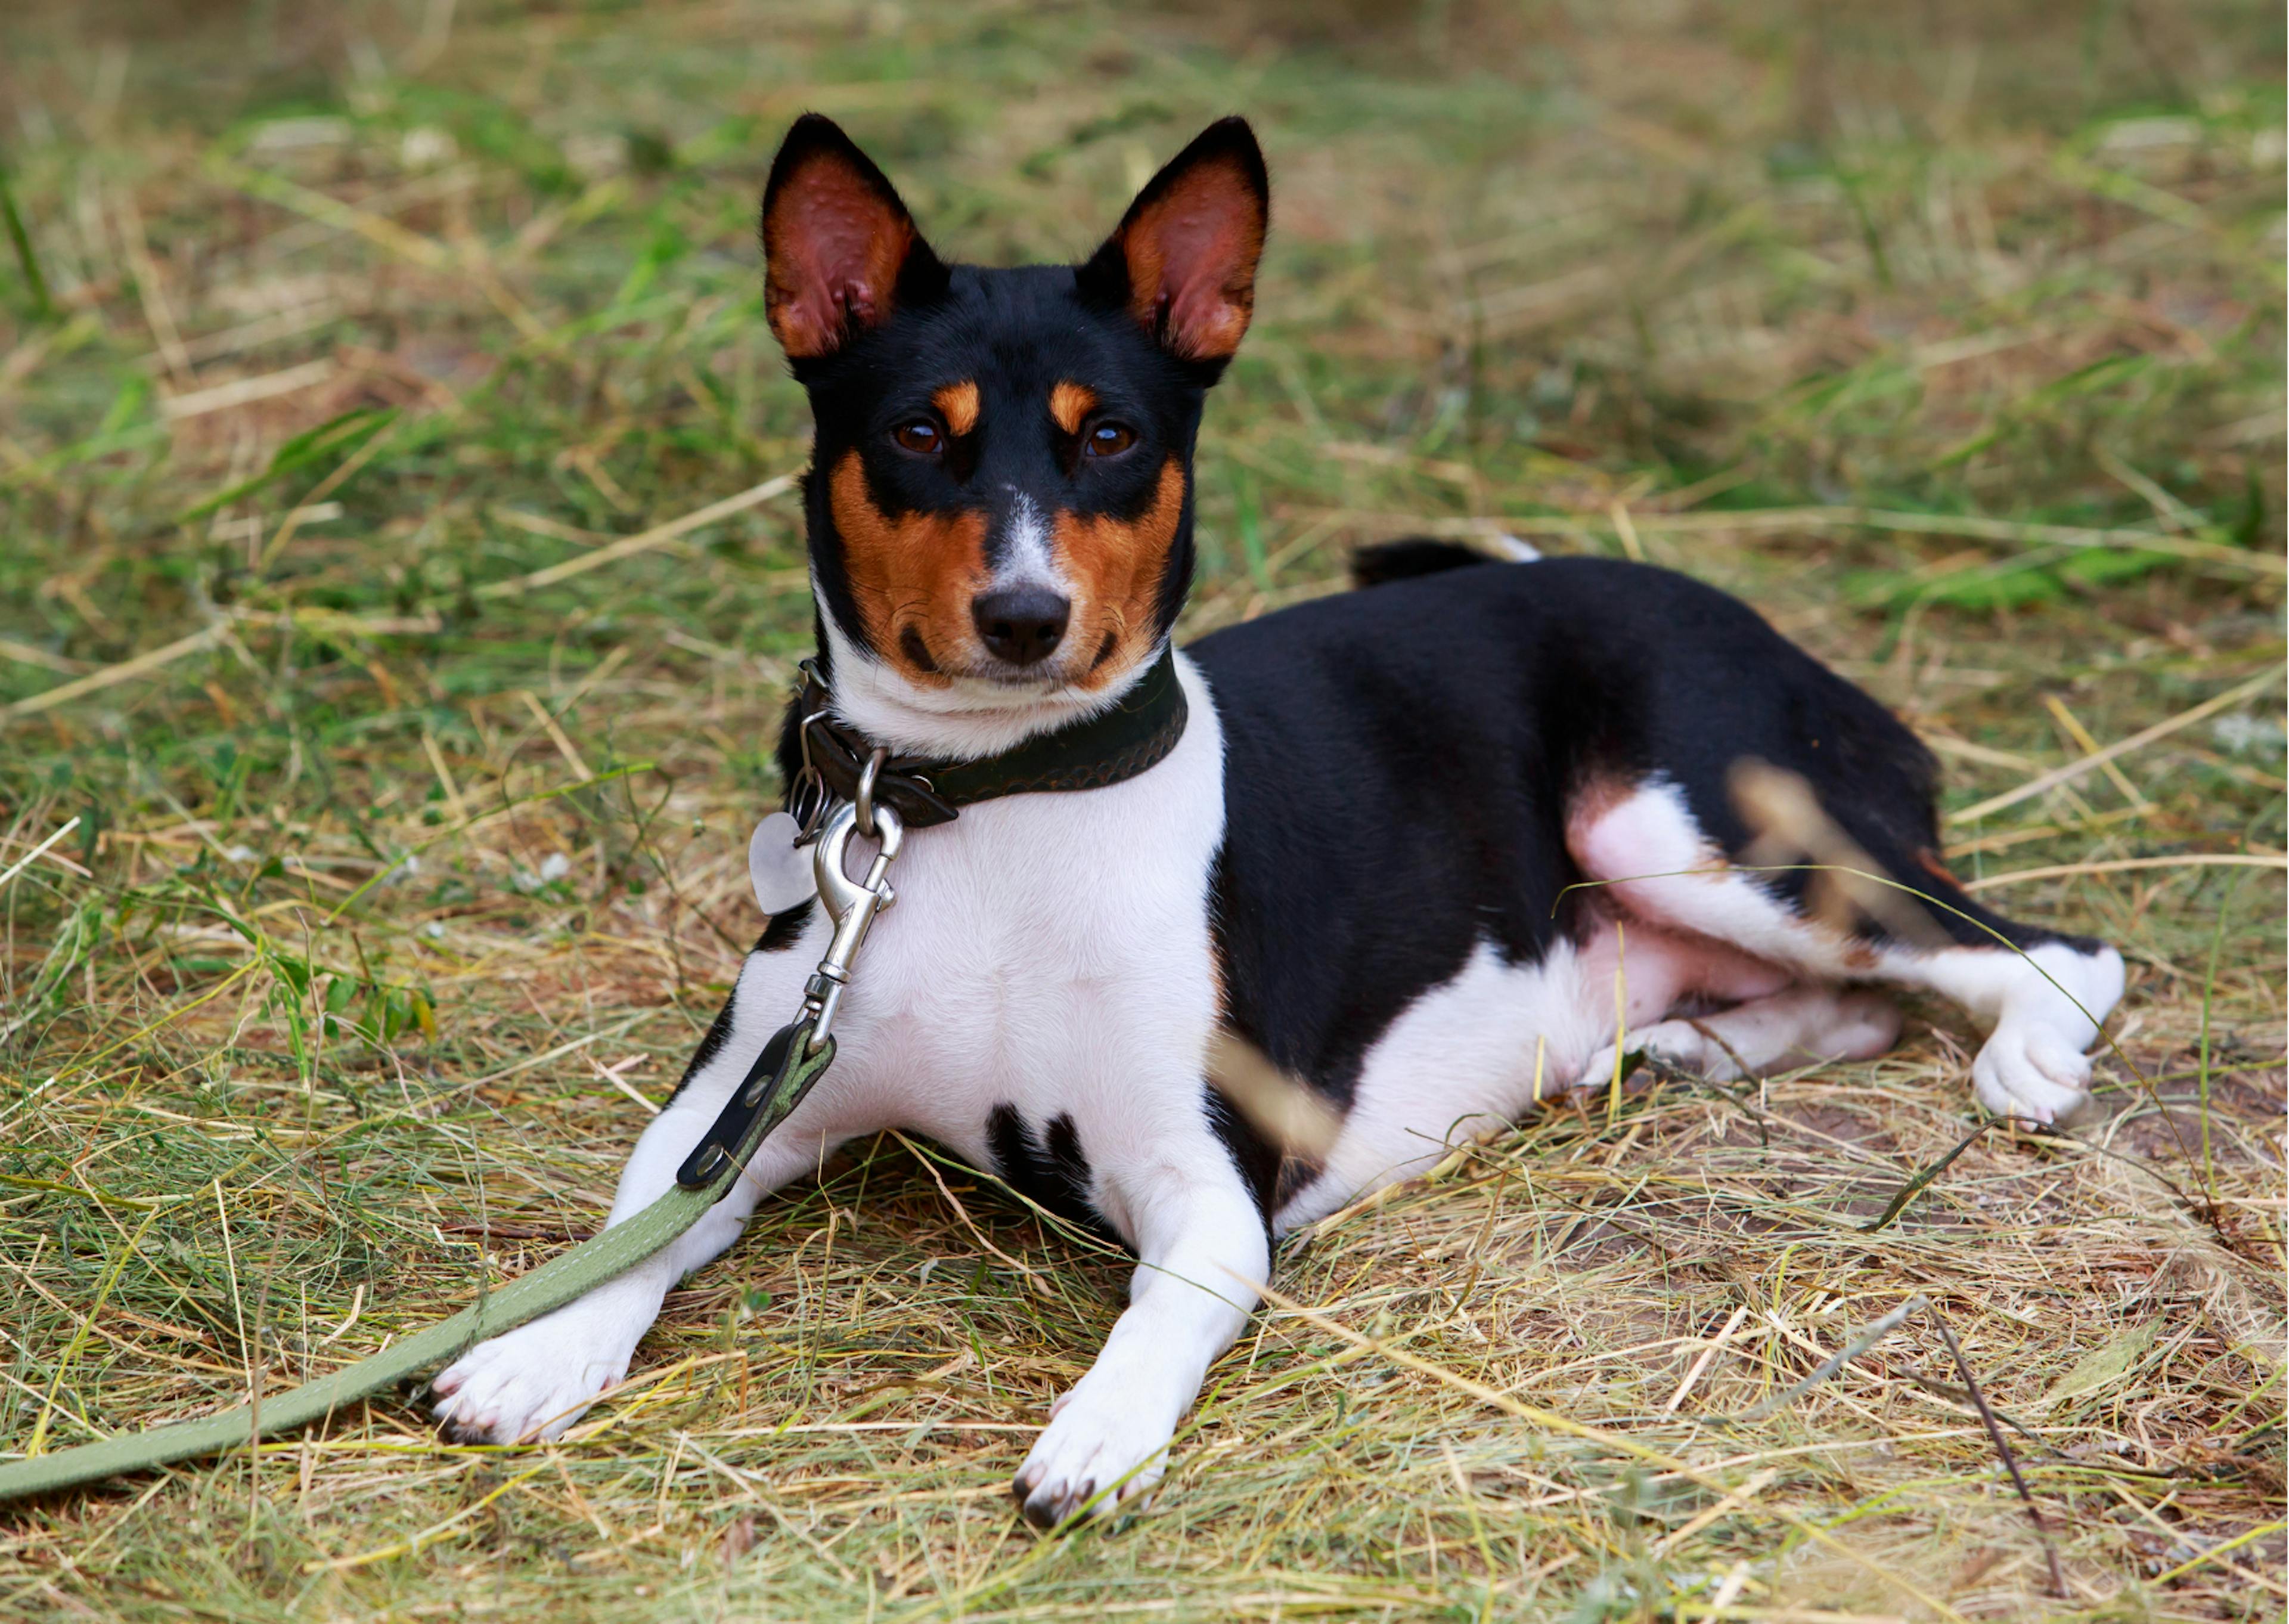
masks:
[[[1110,703],[1193,575],[1193,437],[1248,330],[1268,211],[1211,124],[1080,266],[941,261],[831,121],[762,197],[765,305],[817,421],[838,705],[906,749],[996,749]]]

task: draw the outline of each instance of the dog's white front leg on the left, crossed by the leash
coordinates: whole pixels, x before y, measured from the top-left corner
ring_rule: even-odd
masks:
[[[643,1129],[620,1173],[607,1225],[643,1212],[668,1191],[675,1168],[794,1010],[801,973],[815,960],[815,951],[810,960],[785,951],[749,955],[723,1012],[730,1031]],[[739,1239],[765,1191],[801,1177],[840,1143],[842,1134],[831,1132],[840,1081],[835,1072],[822,1077],[794,1115],[762,1141],[746,1177],[655,1258],[552,1315],[478,1342],[446,1367],[433,1383],[444,1429],[472,1443],[515,1443],[556,1438],[579,1420],[597,1393],[627,1374],[627,1361],[659,1317],[668,1287]]]

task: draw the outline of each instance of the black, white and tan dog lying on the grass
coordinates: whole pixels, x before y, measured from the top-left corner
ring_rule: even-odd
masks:
[[[1971,898],[1936,857],[1932,756],[1733,598],[1410,541],[1364,552],[1355,591],[1172,648],[1193,447],[1268,211],[1222,119],[1085,263],[945,263],[833,121],[792,126],[765,309],[817,421],[817,664],[781,767],[813,822],[822,758],[845,793],[858,758],[877,799],[900,783],[900,905],[838,990],[833,1067],[732,1193],[437,1377],[451,1434],[561,1434],[765,1191],[886,1127],[1138,1258],[1016,1471],[1053,1526],[1149,1496],[1282,1232],[1630,1056],[1708,1079],[1870,1058],[1900,1028],[1882,990],[1923,990],[1991,1022],[1989,1111],[2088,1109],[2122,957]],[[1007,765],[1041,740],[1103,760]],[[964,763],[993,795],[938,804]],[[613,1223],[822,985],[829,909],[765,900]]]

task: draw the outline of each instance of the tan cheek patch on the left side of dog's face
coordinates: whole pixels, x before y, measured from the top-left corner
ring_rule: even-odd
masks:
[[[945,687],[950,678],[938,664],[975,657],[971,598],[987,582],[987,515],[916,511],[890,518],[868,495],[856,451],[835,463],[829,506],[863,621],[852,630],[906,680]],[[925,660],[916,660],[916,641]]]

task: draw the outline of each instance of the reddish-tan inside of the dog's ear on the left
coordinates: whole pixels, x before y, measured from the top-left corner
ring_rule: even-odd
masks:
[[[790,357],[810,360],[840,348],[852,325],[890,314],[913,220],[847,163],[819,153],[771,199],[762,250],[771,334]]]

